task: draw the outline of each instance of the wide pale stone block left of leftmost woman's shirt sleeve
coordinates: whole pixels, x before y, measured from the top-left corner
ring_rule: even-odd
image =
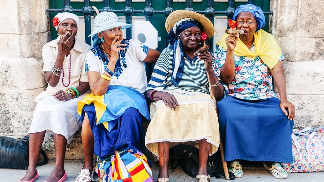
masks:
[[[41,73],[43,62],[34,58],[3,58],[0,82],[2,90],[32,90],[43,88],[47,85]],[[35,98],[35,97],[34,97]]]

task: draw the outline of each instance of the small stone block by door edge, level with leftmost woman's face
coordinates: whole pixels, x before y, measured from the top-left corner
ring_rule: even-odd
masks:
[[[20,55],[41,59],[42,49],[50,41],[50,32],[22,34],[20,39]]]

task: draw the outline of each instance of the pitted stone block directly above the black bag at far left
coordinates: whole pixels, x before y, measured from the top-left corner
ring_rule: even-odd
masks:
[[[36,105],[34,99],[43,90],[44,88],[0,91],[0,135],[24,136],[28,134]]]

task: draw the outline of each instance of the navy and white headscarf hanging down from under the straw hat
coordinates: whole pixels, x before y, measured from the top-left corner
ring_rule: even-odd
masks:
[[[173,61],[172,61],[172,77],[171,83],[178,87],[180,80],[182,79],[182,72],[184,70],[184,53],[181,46],[181,41],[179,40],[179,35],[182,31],[190,27],[199,27],[201,30],[203,26],[201,23],[192,18],[184,18],[179,20],[173,28],[170,30],[170,33],[167,37],[168,42],[170,43],[170,49],[173,49]]]

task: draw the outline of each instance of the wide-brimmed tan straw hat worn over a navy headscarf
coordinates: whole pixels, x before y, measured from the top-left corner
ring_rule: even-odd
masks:
[[[205,16],[188,10],[176,10],[170,13],[167,20],[165,21],[165,29],[167,30],[167,32],[169,33],[174,24],[176,24],[183,18],[192,18],[199,21],[203,26],[202,31],[207,34],[207,40],[213,37],[215,31],[213,23]]]

